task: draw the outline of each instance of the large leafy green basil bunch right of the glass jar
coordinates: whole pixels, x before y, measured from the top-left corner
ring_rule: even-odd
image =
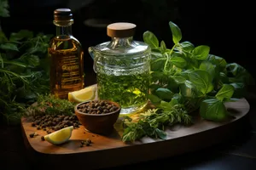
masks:
[[[144,42],[152,48],[151,92],[148,96],[154,105],[177,99],[190,113],[200,111],[202,118],[223,122],[232,116],[224,102],[245,97],[247,86],[253,85],[253,77],[236,63],[209,54],[206,45],[195,47],[191,42],[181,42],[182,32],[172,21],[173,47],[166,48],[154,33],[146,31]]]

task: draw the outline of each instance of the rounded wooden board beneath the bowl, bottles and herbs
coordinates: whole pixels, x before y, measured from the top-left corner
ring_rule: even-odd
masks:
[[[247,123],[250,105],[246,99],[240,99],[226,103],[226,106],[233,115],[236,115],[236,119],[231,122],[207,122],[197,117],[195,124],[190,127],[175,126],[166,129],[166,140],[145,137],[134,144],[124,144],[120,139],[122,135],[121,117],[115,124],[115,130],[108,137],[89,133],[81,126],[73,130],[70,141],[59,146],[41,141],[40,136],[45,135],[46,132],[36,130],[28,119],[22,118],[21,126],[32,161],[38,161],[42,165],[55,164],[60,169],[67,169],[68,166],[85,166],[86,169],[95,169],[177,156],[230,139],[236,134],[237,129]],[[30,138],[29,134],[33,132],[39,135]],[[91,139],[93,144],[80,147],[80,140],[84,139]],[[67,163],[63,163],[66,161]],[[70,164],[70,161],[73,163]]]

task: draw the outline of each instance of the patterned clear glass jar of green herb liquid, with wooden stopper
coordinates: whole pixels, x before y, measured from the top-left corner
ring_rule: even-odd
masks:
[[[131,23],[108,25],[111,41],[89,48],[98,98],[118,102],[120,114],[140,111],[148,103],[151,49],[148,44],[133,40],[135,28]]]

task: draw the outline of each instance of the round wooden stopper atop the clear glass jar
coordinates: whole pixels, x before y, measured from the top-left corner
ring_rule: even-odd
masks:
[[[117,22],[107,26],[108,37],[132,37],[135,33],[135,24]]]

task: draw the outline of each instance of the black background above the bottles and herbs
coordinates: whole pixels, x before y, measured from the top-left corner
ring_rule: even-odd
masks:
[[[9,0],[9,5],[10,17],[2,20],[6,33],[28,29],[55,34],[53,11],[71,8],[73,36],[83,45],[87,72],[92,71],[87,48],[109,40],[106,34],[109,23],[132,22],[137,25],[136,40],[143,41],[143,32],[152,31],[172,48],[168,26],[172,20],[183,32],[182,41],[195,46],[208,45],[211,54],[242,65],[255,77],[253,3],[249,0]],[[85,24],[90,19],[105,26]]]

